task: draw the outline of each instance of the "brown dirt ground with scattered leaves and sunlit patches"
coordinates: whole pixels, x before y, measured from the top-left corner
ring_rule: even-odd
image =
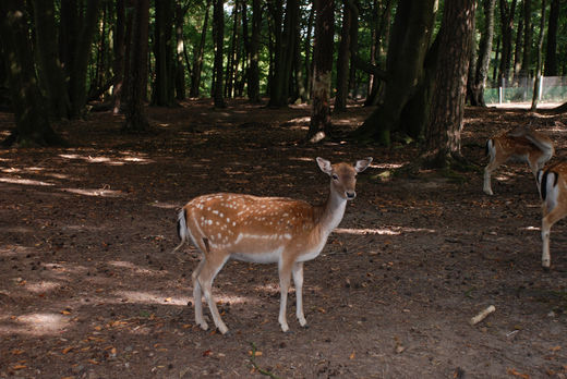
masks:
[[[480,170],[391,176],[413,147],[304,145],[309,112],[192,101],[148,108],[155,131],[136,136],[120,134],[120,117],[93,113],[59,127],[72,147],[0,150],[0,377],[566,378],[567,225],[552,230],[545,272],[528,167],[502,167],[492,197]],[[369,112],[334,121],[348,131]],[[465,156],[482,167],[485,139],[519,124],[565,155],[565,115],[468,109]],[[0,113],[0,136],[12,126]],[[321,203],[317,156],[374,161],[305,264],[309,328],[291,290],[291,332],[280,331],[274,265],[230,261],[214,285],[230,333],[201,330],[200,257],[171,253],[177,210],[214,192]]]

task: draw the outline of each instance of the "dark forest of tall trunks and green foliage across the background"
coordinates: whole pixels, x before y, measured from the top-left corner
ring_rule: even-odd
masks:
[[[51,124],[89,111],[248,98],[309,102],[306,140],[331,137],[330,112],[375,106],[352,137],[421,140],[460,155],[465,99],[485,106],[487,82],[567,71],[564,0],[7,0],[0,87],[16,130],[5,145],[62,143]],[[466,84],[466,86],[465,86]],[[562,110],[562,109],[559,109]],[[457,133],[456,133],[457,132]],[[439,159],[436,159],[439,161]]]

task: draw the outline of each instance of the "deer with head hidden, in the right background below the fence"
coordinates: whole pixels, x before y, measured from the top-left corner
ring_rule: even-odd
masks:
[[[493,195],[491,173],[500,164],[510,160],[527,162],[535,176],[554,152],[553,142],[546,135],[527,126],[488,139],[486,155],[490,161],[484,168],[484,193]]]

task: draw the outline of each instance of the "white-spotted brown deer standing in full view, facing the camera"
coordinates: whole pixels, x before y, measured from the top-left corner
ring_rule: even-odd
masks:
[[[323,250],[330,232],[342,220],[347,200],[355,196],[357,173],[364,171],[372,158],[354,166],[331,164],[316,159],[323,172],[330,176],[330,193],[321,206],[282,197],[257,197],[239,194],[213,194],[189,201],[178,216],[181,243],[191,240],[201,250],[202,260],[193,271],[195,322],[207,330],[203,318],[202,294],[208,304],[217,329],[228,331],[218,314],[212,294],[215,276],[228,259],[258,264],[278,264],[280,306],[278,321],[284,332],[289,330],[286,306],[290,277],[295,284],[297,317],[306,326],[303,315],[303,262]]]

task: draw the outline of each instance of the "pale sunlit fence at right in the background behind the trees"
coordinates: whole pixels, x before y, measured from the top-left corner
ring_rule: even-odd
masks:
[[[505,81],[502,86],[487,84],[484,101],[491,103],[531,102],[533,77],[517,77]],[[542,76],[539,102],[567,101],[567,76]]]

